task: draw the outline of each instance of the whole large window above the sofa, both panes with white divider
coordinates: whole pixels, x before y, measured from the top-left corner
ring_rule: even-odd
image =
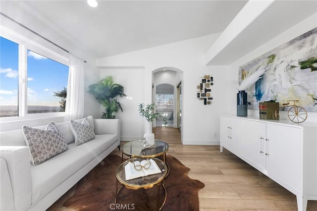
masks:
[[[64,111],[68,66],[25,42],[0,44],[0,117]]]

